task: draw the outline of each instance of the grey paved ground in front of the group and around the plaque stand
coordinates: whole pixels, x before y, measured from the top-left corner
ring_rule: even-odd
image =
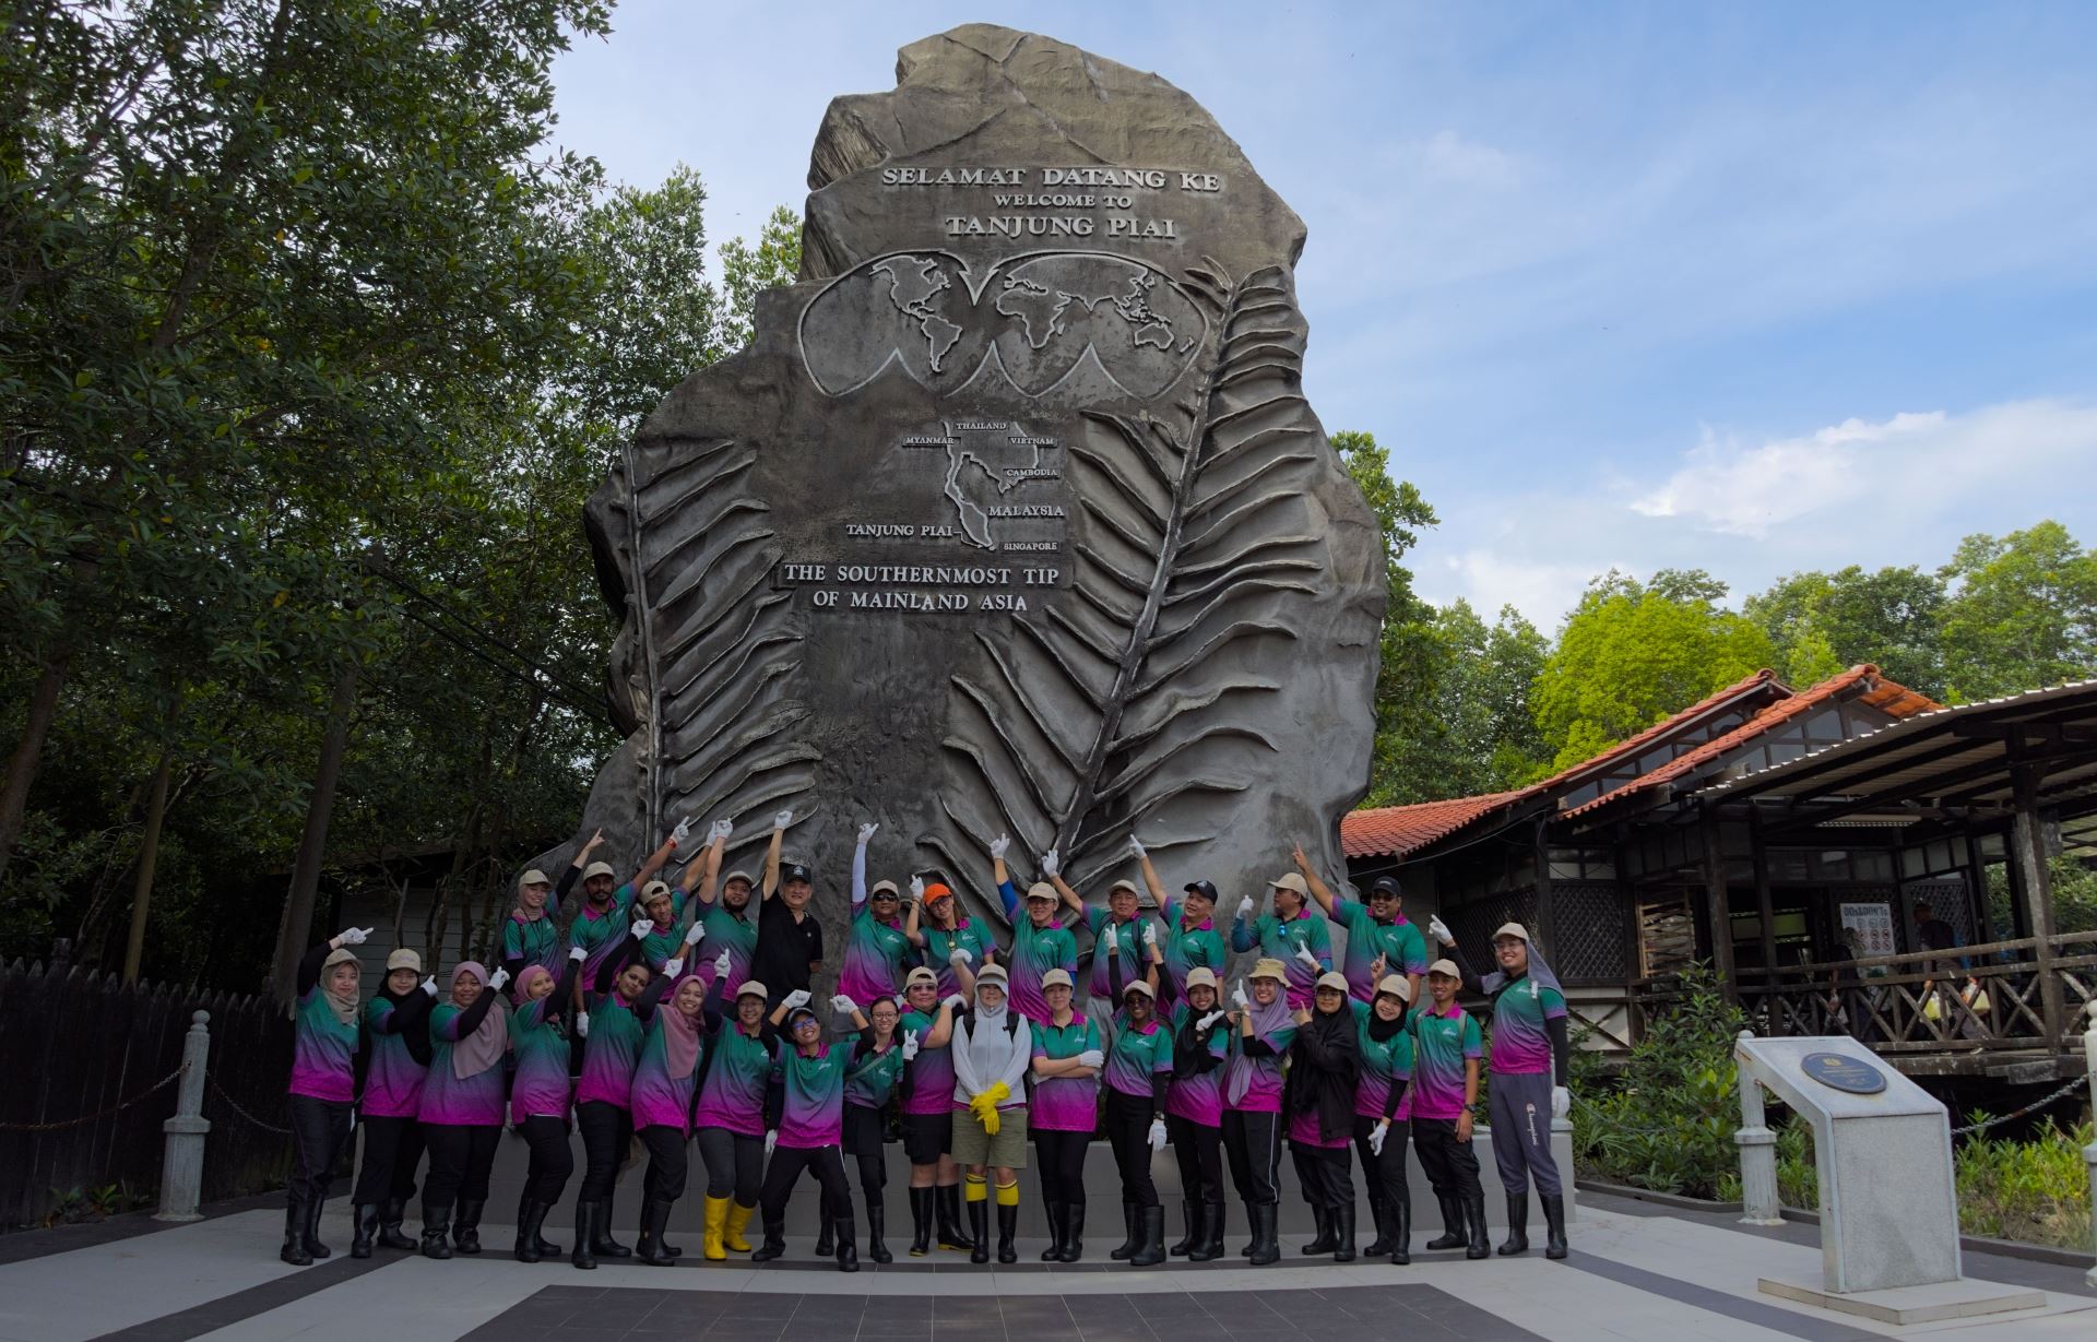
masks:
[[[1575,1252],[1466,1262],[1418,1254],[1388,1262],[1283,1260],[1132,1271],[1103,1260],[1046,1267],[1040,1243],[1017,1269],[973,1267],[958,1254],[902,1258],[847,1277],[816,1267],[809,1241],[776,1264],[526,1267],[507,1252],[430,1262],[411,1254],[348,1258],[348,1208],[329,1204],[323,1235],[336,1256],[310,1269],[277,1262],[283,1212],[239,1210],[145,1235],[84,1235],[84,1248],[0,1264],[6,1342],[371,1342],[499,1338],[501,1342],[1413,1342],[1564,1338],[1604,1342],[1868,1342],[1931,1334],[1957,1342],[2097,1338],[2097,1294],[2078,1269],[1969,1256],[1973,1277],[2049,1292],[2047,1308],[1977,1323],[1891,1329],[1755,1292],[1757,1277],[1816,1279],[1814,1231],[1749,1233],[1713,1216],[1583,1195]],[[1432,1227],[1430,1231],[1432,1233]],[[1415,1235],[1426,1239],[1428,1235]],[[507,1227],[482,1227],[507,1246]],[[52,1243],[50,1239],[42,1243]],[[59,1241],[63,1243],[63,1239]],[[1235,1243],[1235,1237],[1233,1237]],[[31,1243],[29,1248],[38,1248]],[[1292,1246],[1290,1246],[1292,1248]]]

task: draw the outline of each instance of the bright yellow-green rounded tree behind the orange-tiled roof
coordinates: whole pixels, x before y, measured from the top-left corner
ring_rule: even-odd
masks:
[[[1558,631],[1537,675],[1535,715],[1552,767],[1571,767],[1776,661],[1770,635],[1722,610],[1709,575],[1650,585],[1610,570]]]

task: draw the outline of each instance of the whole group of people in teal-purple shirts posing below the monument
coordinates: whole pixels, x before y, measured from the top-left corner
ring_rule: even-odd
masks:
[[[1269,912],[1244,895],[1220,931],[1216,887],[1189,881],[1166,891],[1134,839],[1141,885],[1114,881],[1097,906],[1065,883],[1055,851],[1040,856],[1042,879],[1021,893],[998,837],[992,879],[1011,933],[996,937],[944,883],[914,876],[908,900],[895,881],[868,887],[879,826],[864,824],[826,1030],[812,998],[824,958],[814,879],[780,858],[791,822],[791,811],[774,818],[761,881],[721,874],[726,820],[684,862],[677,885],[661,874],[690,849],[690,822],[625,883],[596,860],[598,832],[558,885],[539,870],[520,876],[497,969],[466,960],[442,988],[413,950],[396,950],[380,992],[361,1000],[350,948],[367,929],[312,948],[298,969],[283,1260],[329,1256],[321,1202],[359,1120],[350,1256],[375,1246],[478,1254],[507,1122],[528,1147],[512,1250],[522,1262],[564,1252],[543,1227],[575,1174],[577,1128],[585,1166],[575,1267],[671,1264],[684,1254],[665,1231],[696,1139],[705,1258],[778,1258],[788,1199],[809,1174],[822,1195],[816,1252],[858,1271],[845,1162],[866,1212],[866,1254],[891,1262],[883,1160],[891,1109],[910,1164],[912,1256],[937,1246],[973,1262],[992,1254],[1015,1262],[1032,1139],[1051,1229],[1040,1256],[1078,1262],[1084,1160],[1105,1134],[1122,1185],[1114,1260],[1220,1258],[1229,1168],[1248,1225],[1239,1256],[1275,1262],[1283,1143],[1317,1227],[1304,1254],[1357,1256],[1359,1157],[1376,1222],[1361,1252],[1411,1260],[1411,1143],[1443,1214],[1443,1235],[1426,1248],[1483,1258],[1491,1248],[1472,1120],[1487,1048],[1478,1017],[1457,1000],[1464,988],[1485,1000],[1493,1025],[1489,1113],[1510,1222],[1499,1252],[1529,1248],[1535,1185],[1545,1252],[1564,1256],[1550,1128],[1569,1105],[1566,1006],[1520,925],[1493,935],[1495,969],[1480,979],[1441,918],[1426,935],[1405,918],[1397,881],[1378,879],[1363,902],[1348,900],[1302,847],[1294,870],[1269,883]],[[564,918],[577,883],[581,904]],[[1143,912],[1145,893],[1155,918]],[[1346,933],[1338,967],[1329,923]],[[1443,952],[1432,962],[1430,935]],[[1233,952],[1254,960],[1225,992]],[[612,1237],[612,1199],[635,1139],[648,1166],[627,1248]],[[1185,1197],[1185,1233],[1170,1248],[1151,1178],[1166,1145]],[[417,1241],[403,1222],[424,1155]],[[753,1216],[761,1216],[757,1246],[747,1239]]]

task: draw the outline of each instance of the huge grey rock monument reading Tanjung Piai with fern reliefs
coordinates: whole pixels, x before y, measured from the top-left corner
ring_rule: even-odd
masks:
[[[833,933],[862,820],[977,912],[1000,832],[1093,897],[1130,835],[1174,889],[1344,874],[1384,564],[1296,214],[1185,92],[990,25],[837,99],[809,187],[801,281],[589,501],[629,738],[583,832],[730,816],[755,870],[793,809]]]

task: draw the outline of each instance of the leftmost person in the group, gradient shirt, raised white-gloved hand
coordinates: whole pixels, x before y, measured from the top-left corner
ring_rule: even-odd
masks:
[[[298,962],[291,1009],[291,1183],[285,1187],[283,1250],[291,1267],[327,1258],[321,1204],[336,1155],[350,1141],[356,1099],[356,956],[369,927],[348,927]]]

